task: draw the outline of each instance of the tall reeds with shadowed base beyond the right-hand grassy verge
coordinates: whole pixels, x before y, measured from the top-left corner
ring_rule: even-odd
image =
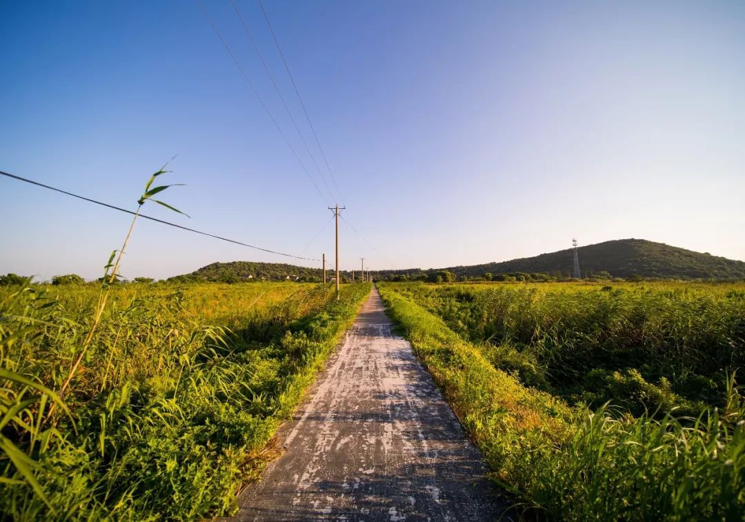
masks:
[[[399,291],[496,366],[570,401],[635,414],[723,406],[745,365],[745,293],[726,284],[491,284]]]

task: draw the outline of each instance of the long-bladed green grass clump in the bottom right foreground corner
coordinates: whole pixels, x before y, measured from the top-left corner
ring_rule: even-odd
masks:
[[[742,520],[745,407],[729,397],[692,423],[587,414],[536,469],[527,505],[567,520]]]

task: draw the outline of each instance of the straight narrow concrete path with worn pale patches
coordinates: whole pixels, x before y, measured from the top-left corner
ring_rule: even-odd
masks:
[[[504,500],[378,290],[238,499],[241,521],[495,520]]]

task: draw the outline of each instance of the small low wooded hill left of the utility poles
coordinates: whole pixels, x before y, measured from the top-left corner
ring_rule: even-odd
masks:
[[[332,271],[327,268],[326,275],[330,278]],[[349,277],[346,272],[343,278]],[[291,281],[320,281],[323,271],[320,268],[298,267],[285,263],[256,263],[253,261],[232,261],[229,263],[212,263],[184,276],[176,276],[169,281],[251,281],[251,280],[286,280]]]

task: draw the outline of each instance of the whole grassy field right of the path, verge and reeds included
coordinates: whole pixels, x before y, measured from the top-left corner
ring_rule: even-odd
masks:
[[[745,284],[379,286],[531,517],[744,517]]]

